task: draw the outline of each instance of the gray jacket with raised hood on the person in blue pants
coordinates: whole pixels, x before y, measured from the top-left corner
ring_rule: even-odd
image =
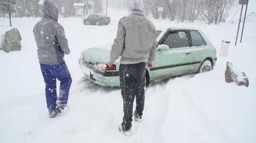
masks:
[[[44,1],[43,18],[34,27],[39,63],[59,64],[64,54],[69,54],[68,40],[61,24],[58,23],[58,8],[50,1]]]

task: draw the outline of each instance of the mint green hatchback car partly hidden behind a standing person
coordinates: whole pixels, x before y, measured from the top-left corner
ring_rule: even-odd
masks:
[[[213,69],[217,62],[216,49],[199,29],[169,28],[157,31],[158,46],[153,68],[146,68],[145,81],[202,73]],[[87,77],[101,85],[118,87],[119,64],[109,67],[111,45],[86,49],[79,59],[81,70]]]

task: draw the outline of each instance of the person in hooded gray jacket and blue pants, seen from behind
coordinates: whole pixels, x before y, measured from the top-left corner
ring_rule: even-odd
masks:
[[[45,0],[42,5],[43,18],[34,27],[37,55],[45,82],[45,94],[49,117],[55,117],[67,105],[71,76],[63,59],[70,53],[68,40],[58,23],[57,6]],[[56,79],[60,81],[57,96]]]

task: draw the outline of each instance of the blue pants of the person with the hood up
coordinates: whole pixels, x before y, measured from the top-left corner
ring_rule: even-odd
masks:
[[[66,106],[72,78],[65,62],[56,65],[40,64],[45,82],[47,108]],[[60,95],[57,96],[56,79],[60,81]]]

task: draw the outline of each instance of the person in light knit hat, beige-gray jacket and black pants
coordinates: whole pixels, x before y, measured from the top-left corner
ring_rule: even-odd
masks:
[[[140,121],[145,102],[145,72],[153,67],[157,46],[156,29],[143,14],[141,0],[131,1],[132,14],[118,23],[117,37],[110,52],[108,66],[113,66],[121,56],[119,77],[124,104],[124,117],[119,131],[130,134],[132,127],[133,101],[136,97],[134,120]],[[146,63],[147,62],[147,63]]]

